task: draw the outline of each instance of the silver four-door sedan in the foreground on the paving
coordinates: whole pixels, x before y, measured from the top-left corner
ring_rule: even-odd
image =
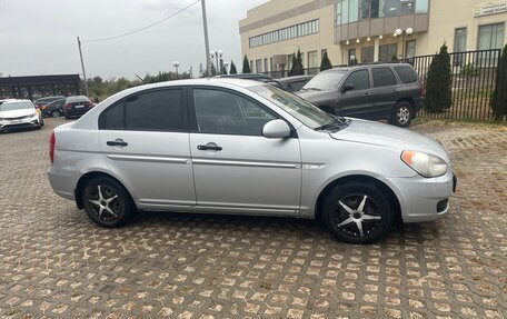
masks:
[[[119,92],[53,130],[53,190],[103,227],[136,210],[322,217],[347,242],[437,219],[454,175],[416,132],[331,116],[266,83],[177,80]]]

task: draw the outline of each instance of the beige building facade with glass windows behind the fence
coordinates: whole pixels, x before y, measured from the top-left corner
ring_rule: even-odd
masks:
[[[507,1],[271,0],[239,21],[241,51],[252,72],[290,69],[302,53],[318,71],[324,52],[334,66],[450,52],[500,49],[507,42]]]

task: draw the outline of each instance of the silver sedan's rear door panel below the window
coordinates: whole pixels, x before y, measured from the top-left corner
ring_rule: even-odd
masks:
[[[121,139],[128,146],[108,146]],[[195,205],[189,133],[101,130],[108,166],[146,205]]]

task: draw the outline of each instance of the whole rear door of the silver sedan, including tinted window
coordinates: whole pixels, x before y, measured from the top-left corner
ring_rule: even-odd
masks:
[[[143,208],[196,205],[183,91],[139,92],[99,117],[108,166]]]

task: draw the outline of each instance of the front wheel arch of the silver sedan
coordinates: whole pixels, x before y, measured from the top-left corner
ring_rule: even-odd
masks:
[[[374,183],[377,186],[380,191],[385,192],[388,196],[388,200],[390,203],[392,203],[392,208],[395,210],[395,221],[396,222],[402,222],[401,218],[401,206],[399,203],[399,199],[396,196],[396,193],[392,191],[392,189],[386,185],[384,181],[371,177],[367,175],[349,175],[349,176],[344,176],[339,177],[331,182],[329,182],[319,193],[317,197],[316,201],[316,207],[315,207],[315,218],[316,219],[322,219],[322,210],[324,210],[324,200],[326,199],[326,196],[329,193],[329,191],[335,188],[338,185],[344,185],[347,182],[365,182],[365,183]]]

